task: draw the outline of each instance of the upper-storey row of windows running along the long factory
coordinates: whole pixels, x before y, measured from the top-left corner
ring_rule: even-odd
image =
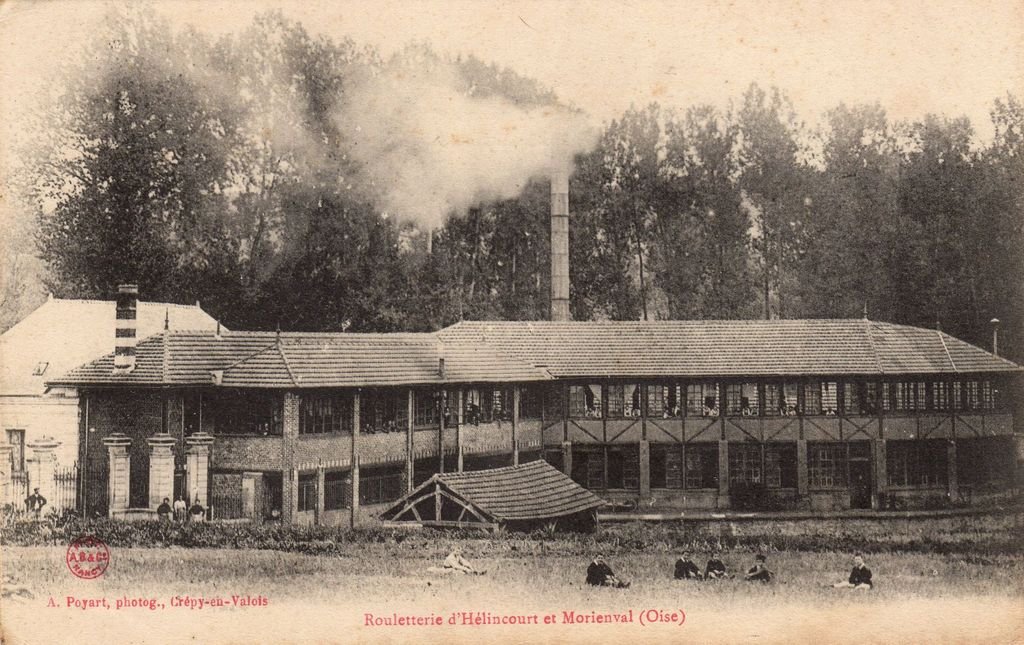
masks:
[[[561,418],[562,386],[521,388],[523,419]],[[646,395],[644,395],[646,389]],[[956,381],[714,381],[650,384],[590,383],[568,386],[570,418],[786,417],[877,415],[1001,410],[1002,388],[989,380]],[[222,434],[282,433],[281,396],[260,390],[223,390],[207,395],[202,405]],[[185,424],[198,428],[200,397],[186,399]],[[455,423],[459,392],[414,391],[413,425],[436,427]],[[462,419],[468,425],[510,421],[511,387],[471,387],[462,391]],[[367,389],[359,397],[360,431],[401,432],[409,425],[408,393],[398,389]],[[352,395],[348,392],[304,393],[299,406],[301,434],[350,433]]]

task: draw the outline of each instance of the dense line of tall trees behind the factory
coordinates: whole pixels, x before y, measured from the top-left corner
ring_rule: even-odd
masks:
[[[548,181],[432,233],[382,212],[333,118],[358,75],[417,64],[311,37],[280,14],[211,40],[146,12],[119,25],[39,115],[20,187],[49,286],[138,282],[237,329],[392,331],[548,315]],[[446,61],[465,91],[553,105],[536,82]],[[860,317],[1024,358],[1024,106],[994,138],[965,119],[839,105],[800,122],[783,93],[657,104],[603,126],[570,180],[571,307],[588,318]]]

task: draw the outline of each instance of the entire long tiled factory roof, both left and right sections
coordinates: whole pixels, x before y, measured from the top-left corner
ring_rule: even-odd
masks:
[[[108,354],[49,384],[356,387],[1020,370],[935,330],[869,320],[467,321],[435,334],[171,331],[139,343],[129,374],[116,374]]]

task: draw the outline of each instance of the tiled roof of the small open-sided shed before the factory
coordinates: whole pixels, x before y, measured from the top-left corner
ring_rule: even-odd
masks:
[[[563,517],[604,504],[599,497],[544,461],[489,470],[440,473],[434,475],[432,481],[440,481],[463,501],[499,522]],[[381,517],[393,517],[403,506],[404,500],[385,511]]]

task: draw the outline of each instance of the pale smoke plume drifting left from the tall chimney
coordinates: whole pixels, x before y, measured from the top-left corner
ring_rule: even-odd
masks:
[[[388,214],[439,226],[449,214],[568,170],[596,143],[581,114],[474,96],[467,85],[454,64],[436,63],[390,66],[346,86],[339,125]]]

